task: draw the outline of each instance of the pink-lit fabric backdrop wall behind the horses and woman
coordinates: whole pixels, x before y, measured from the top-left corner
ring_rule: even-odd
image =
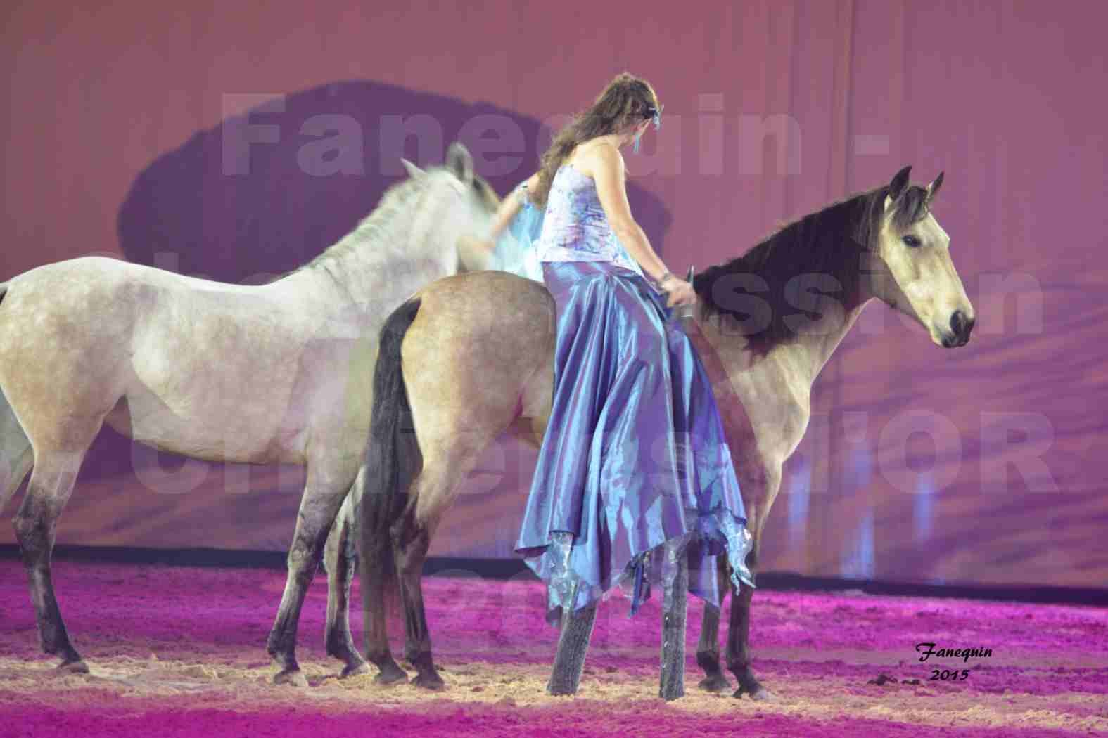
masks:
[[[273,200],[256,198],[250,227],[265,236],[304,211],[297,227],[315,239],[278,248],[227,226],[246,201],[228,188],[245,198],[261,180],[220,179],[212,155],[228,118],[264,98],[301,115],[268,118],[293,144],[273,150],[294,153],[311,141],[297,127],[301,103],[326,114],[328,100],[357,100],[372,134],[380,115],[449,108],[447,128],[486,107],[509,115],[525,141],[512,149],[502,137],[500,150],[522,164],[478,165],[504,191],[534,166],[538,122],[556,124],[628,69],[666,105],[628,166],[636,215],[675,271],[730,258],[905,164],[916,180],[945,170],[934,211],[977,309],[974,340],[944,352],[884,308],[866,311],[817,384],[766,565],[895,581],[1108,579],[1102,3],[338,0],[274,12],[124,0],[6,14],[2,279],[88,253],[174,253],[163,266],[198,254],[189,269],[237,281],[312,256],[305,243],[318,250],[352,225],[351,208],[367,211],[383,186],[376,164],[399,153],[367,135],[375,166],[363,174],[286,163],[276,186],[271,169],[258,191]],[[444,143],[406,150],[434,163]],[[207,184],[179,207],[165,195],[192,181]],[[279,549],[291,536],[296,470],[176,471],[119,439],[98,449],[114,461],[90,459],[60,542]],[[513,444],[491,449],[433,553],[509,555],[532,461]],[[158,462],[196,474],[182,485],[191,491],[152,491]],[[0,541],[12,540],[4,524]]]

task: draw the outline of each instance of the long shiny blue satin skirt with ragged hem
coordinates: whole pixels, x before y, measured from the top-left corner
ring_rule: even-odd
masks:
[[[554,396],[516,552],[547,583],[570,532],[574,609],[649,597],[667,540],[689,541],[689,591],[719,605],[716,557],[746,512],[711,384],[666,299],[607,261],[543,262],[557,305]],[[745,559],[742,551],[740,561]],[[547,620],[568,596],[548,588]]]

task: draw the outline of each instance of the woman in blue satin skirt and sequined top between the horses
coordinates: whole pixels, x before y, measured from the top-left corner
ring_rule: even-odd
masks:
[[[666,632],[679,619],[681,638],[686,588],[719,604],[716,555],[726,552],[736,588],[752,586],[711,385],[673,315],[696,293],[627,202],[619,149],[637,152],[660,114],[649,83],[617,75],[504,199],[493,232],[521,208],[545,208],[534,248],[557,306],[554,395],[516,550],[548,584],[548,616],[563,617],[555,694],[576,689],[596,602],[616,584],[633,585],[634,614],[660,582]]]

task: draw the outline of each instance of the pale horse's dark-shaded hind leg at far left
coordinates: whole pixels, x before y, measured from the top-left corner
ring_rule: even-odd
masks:
[[[73,482],[83,458],[83,451],[37,454],[27,495],[16,514],[16,538],[23,554],[42,651],[60,656],[62,663],[59,668],[69,672],[88,672],[89,667],[65,633],[65,624],[54,596],[50,555],[54,547],[58,518],[73,492]]]

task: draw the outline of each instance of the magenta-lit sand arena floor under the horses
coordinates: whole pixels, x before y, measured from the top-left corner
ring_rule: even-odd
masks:
[[[1088,736],[1108,735],[1108,611],[1094,607],[759,592],[751,641],[772,703],[696,688],[701,604],[689,612],[687,695],[656,698],[659,613],[602,604],[576,698],[543,692],[556,631],[532,582],[432,578],[428,617],[447,690],[339,680],[322,644],[326,583],[305,604],[310,687],[275,687],[265,638],[284,573],[57,562],[66,625],[92,674],[38,651],[25,576],[0,562],[0,736]],[[356,591],[353,601],[360,602]],[[356,609],[358,610],[358,609]],[[352,613],[360,637],[360,613]],[[400,651],[401,630],[392,628]],[[988,647],[944,659],[915,644]],[[879,674],[895,677],[866,684]],[[919,685],[904,684],[920,679]]]

